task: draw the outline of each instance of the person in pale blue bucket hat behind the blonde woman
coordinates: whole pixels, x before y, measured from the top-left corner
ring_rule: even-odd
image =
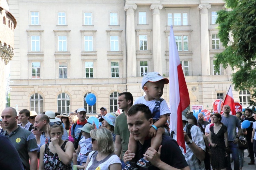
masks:
[[[101,128],[106,128],[106,129],[110,130],[110,132],[112,133],[114,142],[116,140],[116,135],[114,134],[115,120],[116,120],[116,115],[113,113],[108,113],[99,119],[99,122],[102,123]]]

